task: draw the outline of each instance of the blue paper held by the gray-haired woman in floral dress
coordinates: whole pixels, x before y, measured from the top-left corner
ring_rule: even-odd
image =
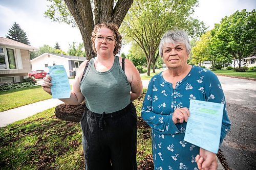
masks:
[[[218,153],[224,104],[190,100],[184,140]]]

